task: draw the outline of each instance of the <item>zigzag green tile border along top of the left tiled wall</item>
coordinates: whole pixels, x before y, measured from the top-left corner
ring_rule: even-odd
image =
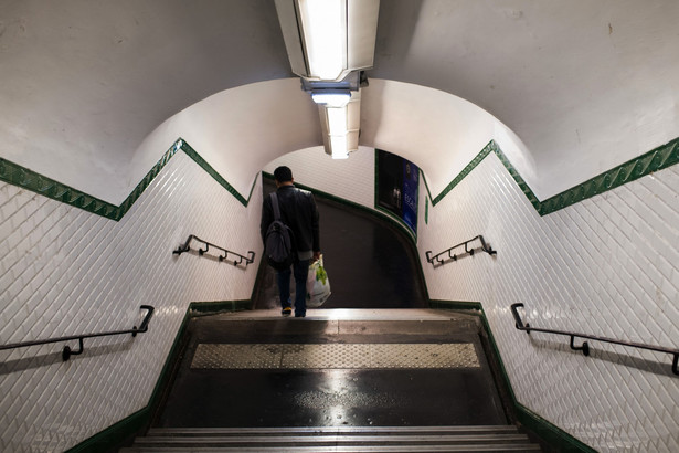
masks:
[[[168,161],[177,154],[178,150],[184,151],[191,159],[193,159],[208,175],[210,175],[215,181],[218,181],[229,193],[233,194],[243,206],[247,207],[252,197],[253,190],[257,182],[255,177],[250,194],[245,199],[237,190],[233,188],[214,168],[210,166],[191,146],[182,138],[177,139],[174,144],[168,149],[160,160],[149,170],[148,173],[139,181],[137,187],[131,193],[120,203],[115,206],[107,201],[100,200],[96,197],[89,196],[81,190],[74,189],[70,186],[63,185],[46,176],[40,175],[33,170],[22,167],[18,164],[13,164],[7,159],[0,158],[0,181],[8,182],[13,186],[21,187],[22,189],[30,190],[32,192],[40,193],[44,197],[51,198],[56,201],[73,206],[75,208],[83,209],[93,214],[105,217],[106,219],[119,221],[129,211],[135,201],[141,197],[141,193],[149,187],[153,178],[158,176],[160,170],[168,164]]]

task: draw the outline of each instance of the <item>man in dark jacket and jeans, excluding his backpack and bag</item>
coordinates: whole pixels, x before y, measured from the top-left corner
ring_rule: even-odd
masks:
[[[307,314],[307,273],[311,260],[320,257],[320,240],[318,210],[316,200],[309,191],[294,186],[293,171],[285,166],[274,171],[276,196],[280,207],[280,220],[293,230],[297,256],[290,267],[277,271],[278,292],[283,316],[293,313],[290,301],[290,274],[295,275],[295,317],[304,318]],[[259,225],[262,240],[266,243],[266,231],[274,221],[272,197],[264,198],[262,207],[262,223]]]

